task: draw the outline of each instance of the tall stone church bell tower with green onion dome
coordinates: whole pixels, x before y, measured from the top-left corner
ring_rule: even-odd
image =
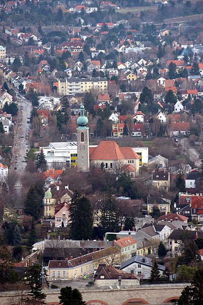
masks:
[[[84,114],[85,107],[80,106],[80,116],[77,119],[77,170],[79,172],[89,171],[89,127],[88,118]]]

